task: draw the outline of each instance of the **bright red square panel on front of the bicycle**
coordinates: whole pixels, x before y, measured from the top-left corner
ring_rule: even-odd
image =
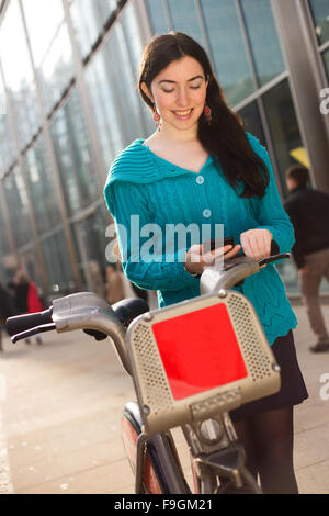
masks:
[[[175,400],[248,374],[224,303],[156,323],[152,330]]]

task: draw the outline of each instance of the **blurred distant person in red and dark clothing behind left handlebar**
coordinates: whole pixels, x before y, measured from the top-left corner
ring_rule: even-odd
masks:
[[[12,285],[15,291],[14,304],[18,314],[34,314],[44,309],[36,284],[21,269],[16,271]],[[43,344],[39,335],[36,335],[36,343]],[[25,339],[25,344],[30,344],[29,338]]]

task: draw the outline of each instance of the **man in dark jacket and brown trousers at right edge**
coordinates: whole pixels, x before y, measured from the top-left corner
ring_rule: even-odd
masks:
[[[329,350],[329,335],[319,303],[321,279],[329,282],[329,194],[307,186],[308,170],[294,165],[286,170],[290,191],[284,207],[295,229],[292,249],[309,324],[317,343],[313,352]]]

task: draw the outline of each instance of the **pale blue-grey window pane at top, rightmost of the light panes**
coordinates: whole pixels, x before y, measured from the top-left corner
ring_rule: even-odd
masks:
[[[284,61],[270,2],[241,0],[260,86],[284,71]]]

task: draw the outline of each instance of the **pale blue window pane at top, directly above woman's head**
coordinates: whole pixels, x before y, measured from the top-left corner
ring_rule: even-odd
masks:
[[[189,36],[196,40],[197,43],[204,47],[205,42],[194,2],[191,2],[190,0],[180,0],[179,2],[177,0],[168,0],[168,4],[170,8],[173,29],[189,34]]]

